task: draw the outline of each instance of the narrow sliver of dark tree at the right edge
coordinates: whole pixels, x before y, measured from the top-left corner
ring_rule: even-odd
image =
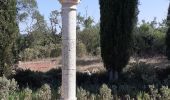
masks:
[[[168,30],[166,32],[166,56],[168,60],[170,60],[170,5],[169,5],[168,15],[167,15],[167,26],[168,26]]]

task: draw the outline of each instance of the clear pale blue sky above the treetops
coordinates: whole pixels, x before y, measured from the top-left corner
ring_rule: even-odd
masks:
[[[61,10],[58,0],[37,0],[37,2],[40,13],[45,16],[47,21],[51,11]],[[141,20],[152,21],[154,17],[161,22],[166,18],[169,0],[140,0],[139,2],[139,22]],[[92,16],[96,23],[99,22],[99,0],[81,0],[77,10],[82,16]]]

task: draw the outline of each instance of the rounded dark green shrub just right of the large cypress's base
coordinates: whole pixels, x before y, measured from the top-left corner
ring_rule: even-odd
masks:
[[[124,76],[127,79],[132,79],[133,81],[136,80],[137,83],[135,84],[144,83],[149,85],[153,83],[159,83],[156,71],[152,65],[140,62],[137,64],[132,64],[131,66],[132,67],[129,67],[129,69],[126,69],[127,72],[125,72],[126,75]]]

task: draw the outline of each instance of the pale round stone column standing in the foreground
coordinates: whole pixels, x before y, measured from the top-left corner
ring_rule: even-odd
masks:
[[[76,9],[79,0],[62,4],[62,87],[61,100],[76,100]]]

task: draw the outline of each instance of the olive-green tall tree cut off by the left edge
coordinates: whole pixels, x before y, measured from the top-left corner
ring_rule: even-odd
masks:
[[[18,35],[16,0],[0,0],[0,4],[0,76],[9,76]]]

